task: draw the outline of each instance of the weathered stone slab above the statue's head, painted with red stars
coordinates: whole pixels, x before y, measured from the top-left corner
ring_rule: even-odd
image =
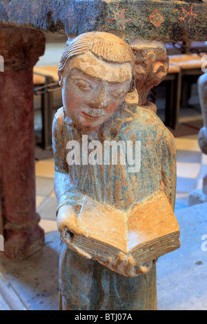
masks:
[[[75,37],[94,30],[125,41],[206,41],[207,3],[158,0],[0,1],[0,21]]]

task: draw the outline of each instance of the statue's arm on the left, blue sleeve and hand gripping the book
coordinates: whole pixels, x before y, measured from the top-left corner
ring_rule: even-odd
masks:
[[[61,132],[61,121],[55,118],[52,123],[52,148],[55,159],[54,190],[57,199],[57,227],[66,245],[86,259],[90,255],[71,245],[74,234],[83,234],[78,213],[81,209],[83,194],[77,190],[68,174],[66,148]]]

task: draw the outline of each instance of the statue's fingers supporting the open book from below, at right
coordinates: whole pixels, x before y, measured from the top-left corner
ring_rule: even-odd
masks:
[[[112,258],[106,259],[106,261],[99,261],[102,265],[105,265],[110,270],[115,271],[122,276],[136,277],[141,274],[146,274],[152,268],[152,261],[144,263],[143,265],[136,266],[134,258],[130,255],[127,256],[123,252],[119,253],[119,256],[115,262]]]

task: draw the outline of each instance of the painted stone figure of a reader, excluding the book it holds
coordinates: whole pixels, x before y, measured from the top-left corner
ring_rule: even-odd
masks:
[[[175,143],[155,112],[125,104],[133,90],[134,54],[113,34],[90,32],[77,37],[61,57],[59,83],[63,108],[52,126],[55,154],[57,224],[61,233],[60,308],[63,310],[155,310],[156,269],[152,261],[136,267],[120,254],[112,263],[90,259],[70,248],[78,234],[83,196],[128,210],[158,190],[174,208]],[[141,141],[141,168],[128,165],[68,165],[67,143],[77,141]],[[75,142],[74,142],[75,143]],[[81,161],[83,161],[83,155]],[[101,227],[101,223],[99,224]],[[108,229],[110,231],[110,229]],[[118,272],[118,273],[117,273]]]

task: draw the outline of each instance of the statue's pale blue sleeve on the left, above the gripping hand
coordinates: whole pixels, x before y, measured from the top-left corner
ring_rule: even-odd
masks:
[[[66,161],[66,143],[63,138],[63,122],[56,117],[52,123],[52,150],[55,161],[54,191],[57,199],[57,212],[63,205],[77,207],[81,205],[83,194],[76,188],[74,181],[68,174]]]

